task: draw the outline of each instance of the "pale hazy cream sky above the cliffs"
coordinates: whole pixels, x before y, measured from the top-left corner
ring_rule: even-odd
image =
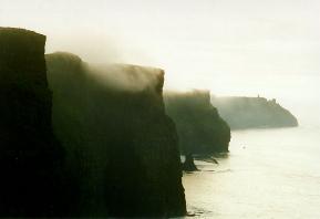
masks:
[[[0,25],[45,34],[48,53],[162,67],[168,90],[320,111],[319,0],[0,0]]]

